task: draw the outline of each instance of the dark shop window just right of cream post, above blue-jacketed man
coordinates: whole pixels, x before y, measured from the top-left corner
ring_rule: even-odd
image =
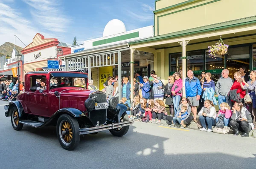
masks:
[[[187,52],[187,69],[200,72],[204,70],[204,51]]]

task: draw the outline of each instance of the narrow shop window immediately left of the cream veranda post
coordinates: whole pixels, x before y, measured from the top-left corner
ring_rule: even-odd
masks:
[[[170,54],[170,71],[169,74],[179,72],[182,69],[182,53]]]

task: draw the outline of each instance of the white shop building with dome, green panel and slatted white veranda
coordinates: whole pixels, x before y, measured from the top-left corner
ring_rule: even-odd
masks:
[[[153,37],[153,29],[153,26],[147,26],[126,31],[124,23],[114,19],[105,26],[103,37],[72,46],[72,54],[60,58],[66,62],[67,71],[88,72],[98,89],[103,89],[108,76],[117,74],[121,86],[120,79],[129,77],[131,71],[140,70],[142,75],[148,75],[153,69],[153,54],[134,49],[134,67],[131,70],[131,49],[128,45],[132,41]]]

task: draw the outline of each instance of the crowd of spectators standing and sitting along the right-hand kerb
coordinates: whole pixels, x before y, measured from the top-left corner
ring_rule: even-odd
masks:
[[[235,135],[240,131],[241,136],[247,137],[256,125],[256,71],[250,72],[249,80],[244,70],[242,67],[239,72],[235,72],[233,80],[229,77],[229,71],[224,69],[216,84],[211,73],[202,72],[199,80],[189,70],[185,78],[186,97],[183,98],[181,72],[169,76],[168,83],[164,84],[154,71],[151,71],[150,78],[141,77],[138,71],[133,79],[133,88],[127,77],[122,79],[119,92],[122,92],[125,102],[121,102],[131,103],[130,119],[137,121],[148,116],[151,123],[160,123],[163,119],[168,125],[185,128],[194,120],[201,124],[201,131],[207,132],[212,132],[212,126],[217,123],[223,123],[233,129]],[[130,102],[131,92],[134,100]],[[244,102],[246,94],[250,95],[252,103]],[[218,112],[215,109],[216,95]],[[165,105],[169,106],[169,113]]]

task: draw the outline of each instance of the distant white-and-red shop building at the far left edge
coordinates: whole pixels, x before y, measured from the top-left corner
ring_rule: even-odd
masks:
[[[16,81],[17,77],[13,76],[12,68],[16,68],[16,74],[18,72],[17,67],[18,67],[18,62],[16,59],[17,50],[14,48],[12,50],[12,57],[9,59],[6,59],[6,56],[2,56],[0,58],[0,77],[1,80],[12,80]],[[21,61],[20,61],[20,81],[23,81],[23,59],[24,56],[22,55]],[[15,71],[15,70],[14,70]],[[17,74],[18,75],[18,74]]]

